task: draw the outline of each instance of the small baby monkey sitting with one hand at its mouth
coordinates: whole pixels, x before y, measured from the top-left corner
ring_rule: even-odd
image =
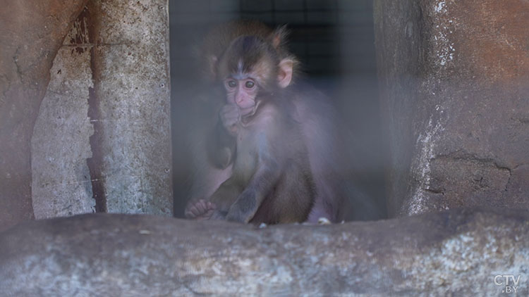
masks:
[[[234,222],[287,223],[307,220],[314,204],[307,148],[295,120],[291,91],[293,58],[281,57],[279,39],[241,36],[214,58],[226,89],[208,156],[232,175],[186,216]]]

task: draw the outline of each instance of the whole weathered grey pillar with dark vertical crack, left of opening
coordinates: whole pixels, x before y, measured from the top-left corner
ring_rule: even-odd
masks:
[[[32,137],[36,218],[172,215],[168,3],[89,1]]]

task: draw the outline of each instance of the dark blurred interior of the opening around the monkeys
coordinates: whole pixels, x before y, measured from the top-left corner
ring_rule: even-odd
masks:
[[[212,25],[251,18],[276,27],[287,24],[289,46],[305,77],[329,95],[343,115],[351,164],[351,220],[387,217],[384,192],[386,137],[380,127],[372,0],[170,0],[173,147],[183,145],[178,122],[182,96],[193,83],[193,46]],[[185,156],[174,154],[174,210],[183,215]]]

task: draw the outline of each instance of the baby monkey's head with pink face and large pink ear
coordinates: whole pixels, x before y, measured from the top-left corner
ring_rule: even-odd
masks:
[[[260,95],[274,94],[292,82],[294,61],[280,58],[274,42],[257,36],[233,40],[217,64],[217,78],[224,84],[226,100],[241,115],[251,113]]]

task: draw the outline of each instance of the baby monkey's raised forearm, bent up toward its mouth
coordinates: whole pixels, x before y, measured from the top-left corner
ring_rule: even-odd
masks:
[[[221,120],[206,141],[207,158],[215,167],[224,169],[233,162],[236,151],[236,138],[231,135]]]

